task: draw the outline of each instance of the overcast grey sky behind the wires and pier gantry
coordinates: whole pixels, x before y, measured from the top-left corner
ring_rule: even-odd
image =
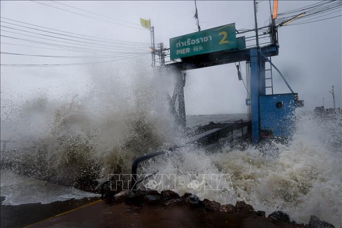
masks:
[[[258,25],[266,25],[269,19],[269,2],[258,1]],[[271,1],[273,2],[273,1]],[[278,12],[297,9],[318,1],[279,1]],[[41,2],[95,16],[53,2]],[[151,19],[155,27],[156,43],[169,46],[169,39],[196,31],[193,18],[194,1],[67,1],[70,6],[97,12],[119,20],[139,24],[139,18]],[[229,23],[236,23],[237,29],[253,29],[253,1],[197,1],[200,25],[208,29]],[[338,13],[336,14],[338,15]],[[130,42],[150,42],[148,30],[134,29],[118,24],[94,20],[70,12],[51,8],[31,1],[1,1],[1,16],[34,25],[64,31],[87,34],[109,39]],[[110,20],[115,22],[113,20]],[[133,27],[133,24],[116,21]],[[5,25],[2,23],[2,25]],[[2,27],[2,29],[5,29]],[[305,110],[321,106],[325,98],[327,108],[332,107],[331,86],[335,86],[336,106],[341,107],[341,17],[334,19],[279,28],[279,56],[272,58],[289,81],[299,98],[305,101]],[[1,32],[6,36],[10,33]],[[23,36],[17,35],[24,38]],[[26,39],[29,39],[26,37]],[[1,42],[11,42],[1,38]],[[262,42],[262,41],[261,41]],[[28,45],[15,41],[16,44]],[[39,46],[37,44],[30,44]],[[34,49],[23,46],[1,44],[1,50],[39,55],[61,55],[56,50]],[[65,52],[64,52],[65,55]],[[81,54],[80,54],[81,55]],[[147,56],[146,58],[150,58]],[[2,64],[68,63],[75,60],[1,56]],[[118,63],[119,64],[119,63]],[[242,66],[244,63],[242,63]],[[245,76],[244,67],[242,74]],[[82,91],[86,82],[79,75],[79,67],[1,67],[2,97],[12,91],[17,96],[26,96],[30,91],[64,91],[61,81],[73,84],[74,89]],[[51,87],[51,85],[53,85]],[[59,86],[60,85],[60,86]],[[67,92],[67,91],[65,91]],[[286,85],[278,74],[274,75],[274,92],[287,93]],[[244,113],[246,91],[242,81],[238,81],[234,64],[226,64],[187,73],[185,86],[187,114]]]

